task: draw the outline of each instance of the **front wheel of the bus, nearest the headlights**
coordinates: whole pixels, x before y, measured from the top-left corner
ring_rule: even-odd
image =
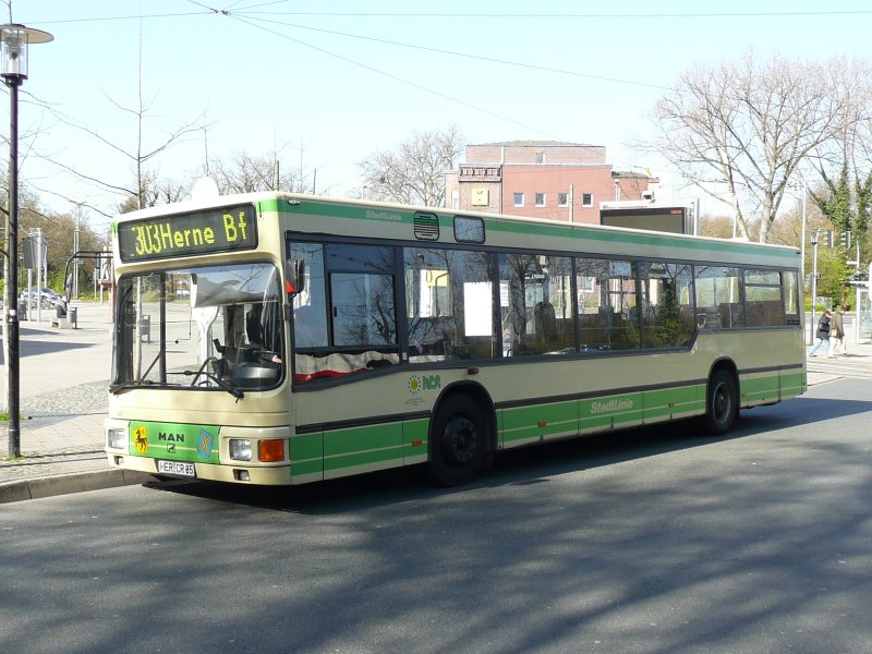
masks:
[[[472,481],[482,468],[488,421],[477,402],[455,393],[436,411],[429,432],[429,474],[439,486]]]

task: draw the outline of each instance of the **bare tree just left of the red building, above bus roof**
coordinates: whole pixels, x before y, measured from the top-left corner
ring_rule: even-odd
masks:
[[[440,207],[445,173],[455,168],[463,148],[457,125],[443,132],[413,132],[395,150],[373,153],[359,164],[362,196],[370,199]]]

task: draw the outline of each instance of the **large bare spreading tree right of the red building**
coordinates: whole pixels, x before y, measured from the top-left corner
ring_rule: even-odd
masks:
[[[791,178],[816,148],[860,119],[850,109],[870,66],[845,59],[823,63],[777,56],[758,63],[698,65],[654,111],[652,142],[643,143],[704,193],[726,192],[740,231],[766,242]],[[855,81],[848,85],[846,80]],[[863,82],[865,84],[865,82]]]

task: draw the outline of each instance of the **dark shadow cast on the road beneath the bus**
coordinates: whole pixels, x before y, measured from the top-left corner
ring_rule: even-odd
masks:
[[[472,484],[448,489],[432,486],[422,465],[293,487],[242,486],[186,480],[157,482],[149,487],[262,509],[330,514],[475,488],[545,483],[548,477],[556,475],[694,448],[716,447],[871,410],[867,401],[803,397],[775,407],[746,410],[732,432],[719,438],[702,435],[694,421],[681,421],[511,449],[499,452],[494,470],[483,473]],[[398,488],[403,489],[401,496],[397,494]]]

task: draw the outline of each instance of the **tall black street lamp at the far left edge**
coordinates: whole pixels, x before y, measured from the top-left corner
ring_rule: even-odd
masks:
[[[7,322],[3,338],[8,341],[7,362],[9,393],[9,456],[21,457],[19,414],[19,86],[27,78],[27,47],[47,44],[55,37],[48,32],[9,23],[0,25],[0,77],[9,87],[9,211],[7,213],[7,256],[9,277],[5,280]]]

